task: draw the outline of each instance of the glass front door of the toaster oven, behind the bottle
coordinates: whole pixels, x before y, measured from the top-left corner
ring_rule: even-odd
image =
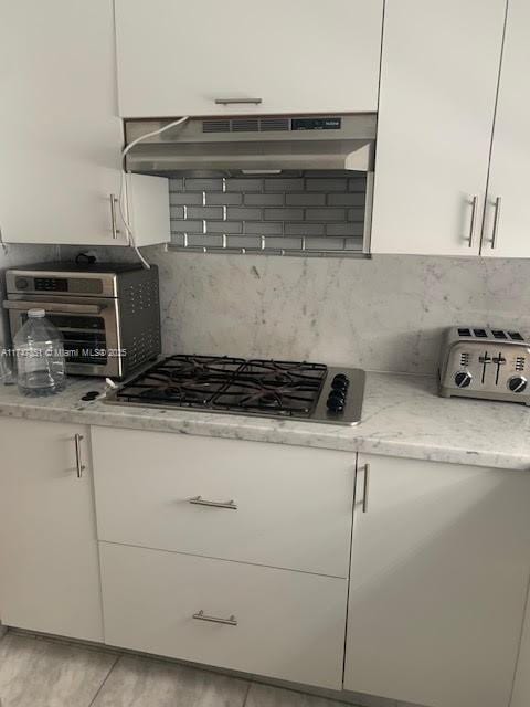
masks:
[[[11,296],[13,297],[13,296]],[[11,337],[28,319],[28,310],[42,307],[64,339],[66,372],[74,376],[120,377],[125,352],[120,350],[117,300],[113,298],[31,295],[6,299]]]

